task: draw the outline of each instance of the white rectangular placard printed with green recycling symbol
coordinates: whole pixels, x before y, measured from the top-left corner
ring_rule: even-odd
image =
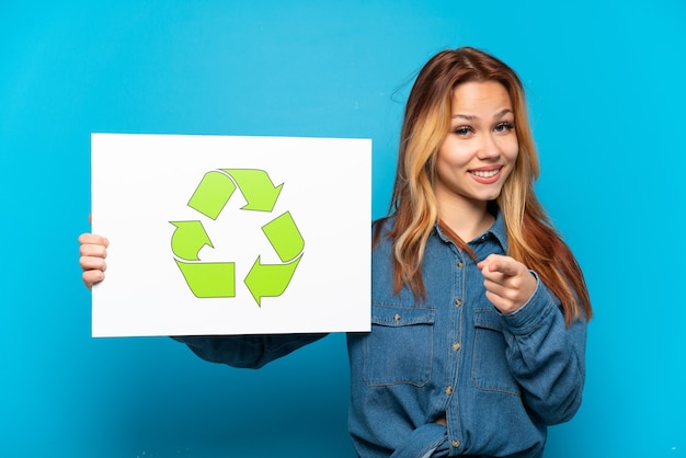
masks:
[[[91,141],[93,336],[369,331],[371,140]]]

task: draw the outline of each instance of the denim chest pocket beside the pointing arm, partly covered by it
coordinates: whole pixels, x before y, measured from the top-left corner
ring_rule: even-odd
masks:
[[[510,371],[507,344],[501,317],[495,310],[477,309],[471,380],[480,390],[519,396],[519,386]]]

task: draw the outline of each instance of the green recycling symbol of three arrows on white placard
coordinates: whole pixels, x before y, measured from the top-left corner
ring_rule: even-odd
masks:
[[[238,188],[247,201],[244,211],[272,213],[284,184],[274,186],[268,174],[256,169],[220,169],[207,172],[188,201],[188,207],[216,220]],[[201,220],[169,221],[175,229],[171,239],[174,261],[191,291],[198,298],[236,297],[236,263],[203,262],[199,252],[214,248]],[[262,264],[258,255],[244,278],[252,297],[262,306],[263,297],[284,294],[302,259],[305,240],[291,215],[286,211],[262,226],[262,232],[282,264]]]

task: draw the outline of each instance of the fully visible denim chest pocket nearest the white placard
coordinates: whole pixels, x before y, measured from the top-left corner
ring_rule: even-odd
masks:
[[[363,378],[368,386],[431,379],[434,309],[371,306],[371,332],[364,342]]]

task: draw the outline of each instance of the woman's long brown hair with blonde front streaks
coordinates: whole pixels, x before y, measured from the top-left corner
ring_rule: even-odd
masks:
[[[522,81],[507,65],[471,47],[444,50],[432,57],[418,75],[407,102],[389,210],[395,216],[389,231],[395,290],[407,285],[415,297],[425,296],[422,259],[426,240],[438,221],[434,194],[436,154],[450,128],[453,92],[470,81],[501,83],[513,104],[519,153],[495,201],[507,228],[507,254],[534,270],[560,299],[568,325],[582,311],[591,319],[591,300],[581,268],[534,192],[539,164]],[[471,252],[465,241],[453,237],[460,249]]]

